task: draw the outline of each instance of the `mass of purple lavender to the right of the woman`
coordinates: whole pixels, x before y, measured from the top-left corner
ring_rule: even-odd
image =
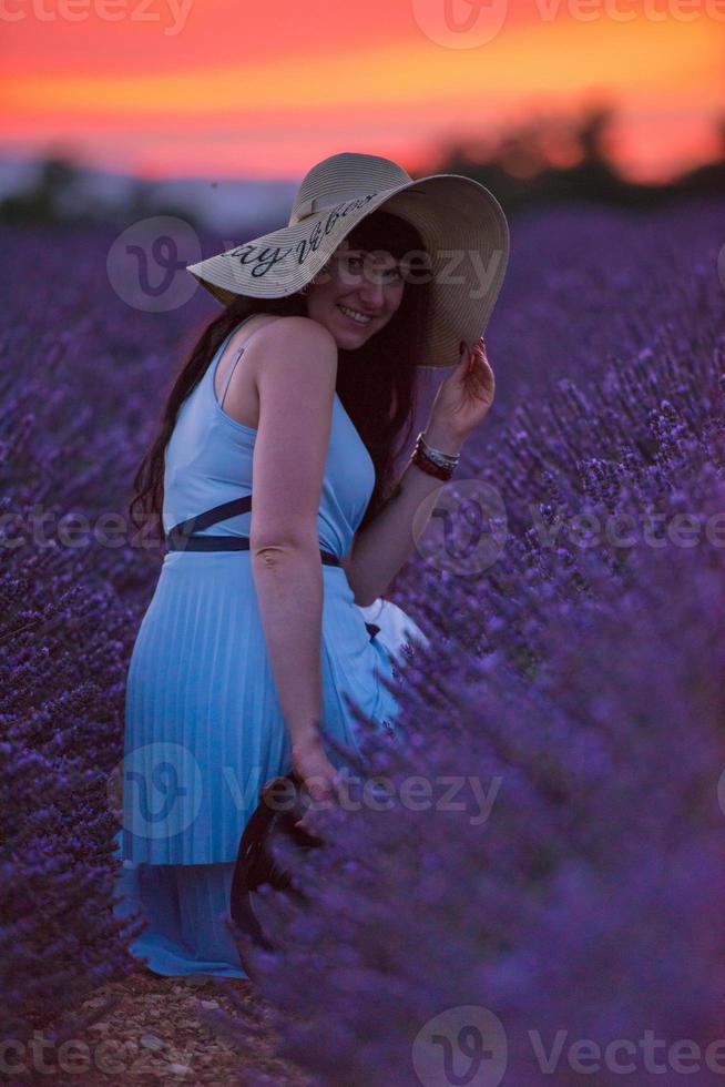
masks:
[[[476,527],[453,519],[398,579],[435,649],[399,691],[402,742],[370,732],[355,768],[389,810],[320,812],[328,851],[300,867],[278,846],[312,910],[261,907],[284,947],[256,956],[261,984],[316,1084],[725,1074],[723,230],[592,216],[594,264],[560,219],[529,236],[568,237],[575,299],[537,264],[537,296],[497,327],[540,308],[574,328],[575,379],[531,317],[513,406],[491,347],[512,406],[460,474],[501,494],[506,545],[467,573]],[[654,244],[665,228],[677,246]],[[607,263],[627,236],[639,267]]]

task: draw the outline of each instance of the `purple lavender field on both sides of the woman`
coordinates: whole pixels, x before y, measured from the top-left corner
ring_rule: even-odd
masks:
[[[111,775],[161,555],[126,502],[215,306],[126,305],[114,237],[2,238],[0,982],[20,1040],[134,965]],[[284,949],[259,984],[320,1087],[725,1078],[723,245],[722,203],[512,224],[496,403],[390,593],[431,640],[400,680],[402,742],[366,730],[390,801],[320,813],[334,844],[297,871],[314,908],[267,904]]]

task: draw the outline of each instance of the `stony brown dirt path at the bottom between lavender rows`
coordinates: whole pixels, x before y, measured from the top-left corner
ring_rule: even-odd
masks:
[[[127,978],[96,989],[73,1020],[98,1013],[110,998],[118,999],[116,1006],[74,1033],[74,1043],[45,1048],[47,1066],[53,1066],[53,1071],[48,1068],[39,1080],[48,1083],[52,1075],[52,1083],[63,1087],[306,1087],[309,1083],[309,1077],[276,1056],[278,1038],[270,1027],[269,1007],[249,981],[165,978],[139,965]],[[244,1023],[242,1045],[204,1020],[203,1015],[214,1018],[219,1009]],[[65,1016],[58,1029],[69,1019]],[[19,1077],[22,1081],[28,1079]]]

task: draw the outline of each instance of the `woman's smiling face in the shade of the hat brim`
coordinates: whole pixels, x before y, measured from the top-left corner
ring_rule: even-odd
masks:
[[[390,253],[350,247],[345,238],[309,284],[307,316],[325,325],[338,347],[355,351],[384,328],[400,305],[404,268]]]

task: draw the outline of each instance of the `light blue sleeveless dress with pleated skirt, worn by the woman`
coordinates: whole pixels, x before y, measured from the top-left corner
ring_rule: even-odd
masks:
[[[256,430],[227,415],[214,392],[228,338],[182,404],[166,447],[165,532],[252,492]],[[323,549],[348,553],[374,485],[372,460],[336,393],[318,511]],[[251,517],[201,535],[248,537]],[[355,603],[344,569],[320,566],[324,732],[355,749],[353,703],[397,734],[399,705],[380,681],[394,678],[397,647],[385,618],[377,619],[384,637],[371,638],[371,609]],[[407,633],[425,640],[411,620]],[[336,766],[344,761],[329,746],[327,754]],[[114,912],[145,912],[149,926],[131,951],[149,968],[247,976],[224,923],[234,862],[265,782],[290,769],[251,552],[169,551],[129,666],[116,836],[123,867]]]

